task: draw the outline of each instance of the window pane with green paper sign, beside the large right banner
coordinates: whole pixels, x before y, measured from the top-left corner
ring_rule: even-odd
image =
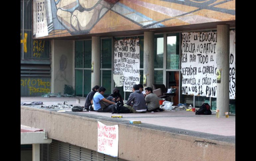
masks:
[[[179,69],[179,33],[167,35],[167,69]]]

